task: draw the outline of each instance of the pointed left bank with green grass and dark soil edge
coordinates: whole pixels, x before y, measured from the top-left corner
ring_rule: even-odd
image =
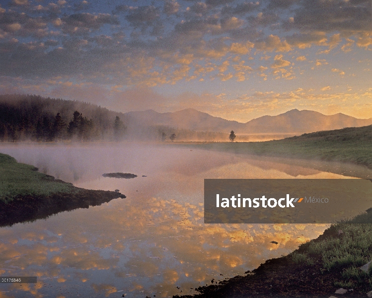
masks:
[[[125,198],[119,192],[74,187],[0,153],[0,226],[97,206],[119,197]]]

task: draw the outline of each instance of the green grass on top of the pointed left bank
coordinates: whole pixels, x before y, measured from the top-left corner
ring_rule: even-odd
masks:
[[[8,203],[17,196],[49,196],[75,191],[72,184],[55,180],[32,165],[18,163],[13,157],[0,153],[0,202]]]

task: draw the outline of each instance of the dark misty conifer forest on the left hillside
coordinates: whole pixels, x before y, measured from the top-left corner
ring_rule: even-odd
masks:
[[[83,106],[81,103],[77,105]],[[93,107],[93,111],[88,109],[90,114],[95,116],[93,120],[78,110],[71,113],[74,107],[76,103],[60,99],[35,95],[1,95],[0,141],[87,142],[124,139],[127,127],[119,116],[110,121],[113,112],[100,107]],[[59,111],[55,113],[56,110]]]

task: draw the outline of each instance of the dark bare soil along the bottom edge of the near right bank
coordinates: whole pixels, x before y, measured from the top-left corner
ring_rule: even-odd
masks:
[[[324,297],[336,296],[334,282],[341,274],[324,271],[321,260],[314,265],[297,265],[288,256],[267,260],[245,276],[215,282],[195,289],[200,294],[183,298],[248,298],[248,297]],[[361,289],[362,290],[362,289]],[[358,289],[343,297],[366,297]],[[173,296],[173,298],[179,297]]]

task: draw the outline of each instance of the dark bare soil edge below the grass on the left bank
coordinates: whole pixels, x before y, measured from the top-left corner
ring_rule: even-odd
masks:
[[[74,188],[71,193],[50,196],[17,196],[7,204],[0,202],[0,226],[45,219],[63,211],[89,208],[112,199],[126,198],[120,192]]]

